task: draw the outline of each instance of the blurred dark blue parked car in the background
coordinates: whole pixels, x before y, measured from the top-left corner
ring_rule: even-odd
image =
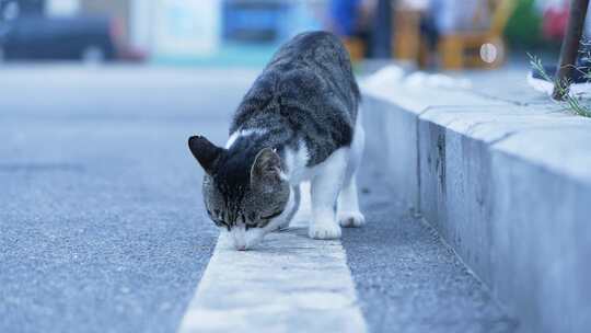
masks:
[[[107,16],[20,16],[0,22],[0,60],[143,60]]]

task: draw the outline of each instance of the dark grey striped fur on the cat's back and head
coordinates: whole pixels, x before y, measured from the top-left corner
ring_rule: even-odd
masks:
[[[334,151],[351,143],[359,99],[348,53],[336,36],[311,32],[283,45],[232,119],[231,135],[250,135],[239,136],[228,149],[202,137],[189,139],[192,152],[207,172],[204,198],[212,220],[229,230],[241,223],[246,229],[266,227],[268,221],[262,217],[286,209],[290,186],[278,176],[265,177],[265,182],[275,182],[265,188],[275,192],[252,186],[257,154],[271,148],[283,163],[286,151],[297,150],[304,142],[308,166],[322,163]],[[262,173],[273,171],[274,166],[268,165],[273,156],[267,153],[266,161],[267,164],[262,162]],[[286,165],[276,166],[280,170]],[[299,190],[291,195],[299,202]],[[289,218],[294,211],[287,214]]]

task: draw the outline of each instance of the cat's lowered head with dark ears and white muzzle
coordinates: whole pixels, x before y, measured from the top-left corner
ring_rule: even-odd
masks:
[[[277,228],[287,213],[290,186],[273,149],[236,153],[201,136],[190,137],[188,146],[206,172],[207,214],[231,233],[237,250],[252,248]]]

